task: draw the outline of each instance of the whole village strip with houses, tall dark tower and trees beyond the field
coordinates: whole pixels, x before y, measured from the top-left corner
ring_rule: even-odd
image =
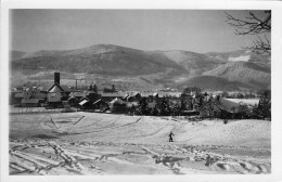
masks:
[[[268,91],[256,92],[202,91],[197,87],[162,89],[156,91],[98,91],[95,84],[87,89],[72,89],[60,84],[60,73],[49,88],[21,88],[11,92],[11,109],[28,112],[39,107],[46,110],[97,112],[148,116],[190,116],[189,118],[270,119],[271,98]],[[30,112],[30,109],[29,109]]]

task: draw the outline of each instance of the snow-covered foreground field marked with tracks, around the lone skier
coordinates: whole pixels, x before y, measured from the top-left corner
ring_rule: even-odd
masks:
[[[270,126],[97,113],[11,115],[10,173],[270,173]]]

